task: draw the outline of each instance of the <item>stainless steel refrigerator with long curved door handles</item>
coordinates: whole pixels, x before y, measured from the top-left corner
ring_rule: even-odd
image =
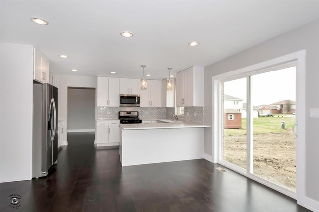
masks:
[[[58,89],[33,81],[32,177],[47,176],[58,157]]]

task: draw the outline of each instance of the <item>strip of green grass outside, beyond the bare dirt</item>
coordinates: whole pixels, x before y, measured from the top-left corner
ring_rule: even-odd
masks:
[[[258,117],[254,118],[253,122],[254,134],[280,133],[291,130],[295,124],[295,117],[287,117],[285,115],[280,115],[280,117],[276,115],[274,117]],[[285,122],[286,129],[282,129],[282,122]],[[224,129],[224,135],[246,135],[246,118],[242,119],[241,129]]]

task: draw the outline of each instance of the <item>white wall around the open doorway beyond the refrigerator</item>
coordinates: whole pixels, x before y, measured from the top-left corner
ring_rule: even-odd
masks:
[[[59,75],[59,111],[58,119],[64,120],[65,129],[68,129],[68,87],[95,88],[97,87],[97,77],[86,76],[65,76]],[[96,95],[96,94],[95,94]],[[64,134],[64,143],[67,143],[67,134]]]

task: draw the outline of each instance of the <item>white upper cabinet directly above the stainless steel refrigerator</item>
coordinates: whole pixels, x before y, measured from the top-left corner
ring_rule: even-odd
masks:
[[[49,83],[49,60],[34,48],[33,79],[41,83]]]

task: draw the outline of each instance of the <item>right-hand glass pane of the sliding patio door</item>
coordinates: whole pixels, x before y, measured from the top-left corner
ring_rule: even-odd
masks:
[[[252,173],[296,191],[295,67],[251,76]],[[259,116],[258,116],[259,114]]]

